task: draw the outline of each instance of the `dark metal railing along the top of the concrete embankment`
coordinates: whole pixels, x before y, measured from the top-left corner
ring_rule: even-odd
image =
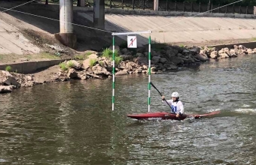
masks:
[[[59,3],[59,0],[37,0]],[[73,0],[76,4],[79,0]],[[85,0],[85,6],[93,6],[93,0]],[[105,0],[105,6],[110,8],[122,9],[140,9],[140,10],[154,10],[154,0]],[[201,4],[201,3],[187,3],[176,2],[170,0],[160,0],[158,10],[165,11],[180,11],[180,12],[198,12],[203,13],[211,10],[210,13],[242,13],[253,14],[253,6],[230,5],[220,7],[222,5],[215,4]],[[218,8],[214,10],[215,8]]]

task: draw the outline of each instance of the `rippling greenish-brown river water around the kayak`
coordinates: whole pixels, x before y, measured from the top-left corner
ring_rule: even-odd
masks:
[[[148,112],[148,77],[49,83],[0,95],[0,164],[255,164],[256,55],[154,74],[185,112],[211,118],[134,121]],[[169,111],[151,89],[151,112]]]

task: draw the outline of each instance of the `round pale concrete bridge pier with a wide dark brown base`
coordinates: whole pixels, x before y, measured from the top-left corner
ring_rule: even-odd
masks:
[[[59,0],[59,33],[55,34],[55,37],[65,46],[74,49],[77,37],[71,23],[73,23],[73,1]]]

